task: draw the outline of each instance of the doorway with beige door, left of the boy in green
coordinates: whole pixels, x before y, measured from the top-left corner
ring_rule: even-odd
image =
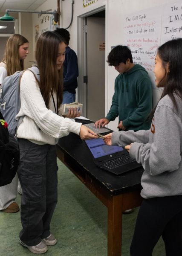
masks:
[[[78,101],[82,116],[96,121],[105,116],[105,9],[93,12],[80,22]]]

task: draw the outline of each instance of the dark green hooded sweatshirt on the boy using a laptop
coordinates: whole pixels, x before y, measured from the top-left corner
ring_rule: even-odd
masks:
[[[125,131],[148,130],[151,122],[146,119],[151,110],[151,81],[144,67],[136,64],[116,77],[112,105],[106,118],[113,121],[119,116]]]

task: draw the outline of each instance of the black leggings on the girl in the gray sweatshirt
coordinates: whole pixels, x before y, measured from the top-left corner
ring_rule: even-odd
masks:
[[[144,199],[139,209],[131,256],[152,256],[160,236],[166,256],[182,256],[182,195]]]

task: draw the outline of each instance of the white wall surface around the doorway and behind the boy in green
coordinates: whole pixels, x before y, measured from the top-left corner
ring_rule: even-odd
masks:
[[[61,1],[61,24],[60,27],[66,28],[71,20],[71,0]],[[98,0],[97,2],[91,4],[90,6],[83,7],[83,0],[75,0],[74,4],[74,17],[72,26],[68,29],[71,35],[70,47],[78,51],[77,42],[78,42],[78,17],[91,12],[94,9],[99,9],[101,6],[106,7],[106,58],[110,52],[111,46],[122,44],[124,38],[123,32],[123,17],[127,14],[141,11],[144,9],[150,9],[153,7],[161,6],[165,3],[173,3],[171,0]],[[52,0],[47,0],[39,10],[47,9],[57,9],[57,1],[54,3]],[[34,26],[39,23],[37,15],[33,16],[33,29]],[[34,30],[33,30],[34,33]],[[113,67],[109,67],[106,63],[106,105],[105,113],[110,110],[110,105],[112,101],[112,96],[114,93],[114,80],[118,75],[117,71]],[[153,95],[156,101],[159,98],[160,92],[155,89],[153,90]],[[110,122],[109,128],[117,130],[118,119]]]

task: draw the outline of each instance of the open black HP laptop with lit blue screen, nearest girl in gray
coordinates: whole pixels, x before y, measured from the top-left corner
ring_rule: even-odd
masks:
[[[123,147],[106,145],[100,138],[85,140],[85,143],[92,153],[95,164],[108,172],[120,175],[142,166],[132,159]]]

